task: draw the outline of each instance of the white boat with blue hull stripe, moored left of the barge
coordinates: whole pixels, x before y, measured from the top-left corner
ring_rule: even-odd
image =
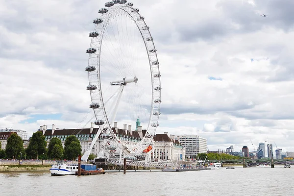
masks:
[[[50,168],[51,175],[74,175],[77,172],[78,164],[67,163],[67,161],[56,161]]]

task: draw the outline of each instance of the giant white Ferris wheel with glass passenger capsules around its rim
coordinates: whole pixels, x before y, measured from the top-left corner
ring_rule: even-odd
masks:
[[[161,84],[156,48],[145,18],[133,3],[112,0],[99,9],[93,21],[88,72],[90,108],[104,140],[103,150],[120,149],[139,155],[158,126]],[[140,117],[146,134],[135,146],[127,146],[111,128],[114,121],[132,123]],[[92,145],[93,146],[93,145]],[[109,153],[109,152],[108,152]]]

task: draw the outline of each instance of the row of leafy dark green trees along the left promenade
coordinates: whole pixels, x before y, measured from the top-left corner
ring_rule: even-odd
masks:
[[[41,131],[33,133],[27,148],[24,148],[23,140],[16,133],[12,133],[7,139],[5,149],[1,149],[0,158],[7,159],[55,159],[74,160],[81,154],[82,148],[79,140],[74,136],[66,138],[64,147],[59,138],[52,138],[47,147],[45,136]],[[89,159],[94,159],[91,154]]]

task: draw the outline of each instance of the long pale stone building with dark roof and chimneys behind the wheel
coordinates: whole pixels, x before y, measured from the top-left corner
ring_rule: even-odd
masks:
[[[127,126],[126,124],[123,125],[123,129],[120,129],[117,124],[117,122],[114,123],[112,130],[124,144],[135,145],[140,142],[146,134],[146,130],[142,130],[142,126],[140,126],[139,119],[136,122],[137,126],[135,130],[132,130],[131,125]],[[66,138],[75,135],[80,142],[82,153],[84,153],[87,150],[87,147],[92,144],[93,138],[98,132],[98,128],[94,128],[94,123],[91,123],[90,128],[83,129],[59,129],[55,128],[55,124],[52,124],[51,129],[48,129],[47,125],[43,125],[40,126],[38,131],[42,131],[47,144],[49,144],[50,139],[58,138],[61,140],[63,147]],[[98,138],[91,153],[98,155],[101,145],[103,145],[103,140]],[[184,158],[185,148],[178,140],[170,138],[167,134],[156,134],[153,138],[151,160],[183,160]]]

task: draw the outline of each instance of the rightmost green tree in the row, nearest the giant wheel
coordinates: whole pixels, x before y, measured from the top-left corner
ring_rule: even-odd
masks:
[[[64,142],[64,156],[67,160],[73,160],[81,154],[82,148],[78,139],[71,135]]]

